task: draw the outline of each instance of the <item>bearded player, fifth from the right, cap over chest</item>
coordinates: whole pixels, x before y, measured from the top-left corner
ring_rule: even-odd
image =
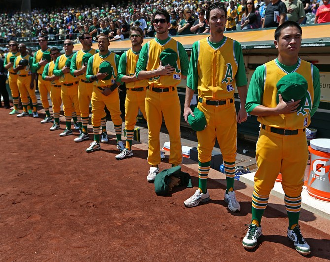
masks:
[[[124,150],[125,146],[122,140],[122,119],[120,112],[119,93],[116,84],[117,69],[120,56],[108,50],[110,45],[106,36],[98,38],[99,53],[93,55],[88,60],[86,79],[93,82],[92,94],[92,125],[94,141],[86,149],[87,153],[101,148],[99,143],[99,130],[101,119],[106,121],[104,106],[110,111],[111,119],[115,128],[117,138],[117,149]],[[105,65],[107,72],[100,72],[100,68]]]

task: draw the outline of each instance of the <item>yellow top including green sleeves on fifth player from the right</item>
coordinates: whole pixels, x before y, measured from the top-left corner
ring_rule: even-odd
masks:
[[[93,82],[94,86],[112,86],[115,84],[118,72],[119,56],[109,51],[107,56],[101,56],[97,53],[89,58],[87,63],[86,79],[89,80],[92,75],[96,75],[99,72],[99,65],[103,61],[108,61],[111,64],[111,78],[108,80],[96,80]]]

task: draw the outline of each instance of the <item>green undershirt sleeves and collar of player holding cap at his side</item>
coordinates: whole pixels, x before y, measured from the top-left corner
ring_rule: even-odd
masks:
[[[212,43],[208,40],[208,43],[215,49],[221,46],[226,37],[224,37],[219,43]],[[190,55],[190,62],[189,62],[189,70],[188,70],[188,78],[187,78],[187,86],[193,90],[198,88],[198,71],[197,71],[197,64],[198,64],[198,50],[199,50],[199,42],[193,43],[192,52]],[[245,74],[245,65],[243,60],[243,53],[241,44],[237,41],[234,41],[234,50],[235,50],[235,58],[237,61],[238,69],[235,75],[236,86],[244,86],[247,85],[247,79]]]

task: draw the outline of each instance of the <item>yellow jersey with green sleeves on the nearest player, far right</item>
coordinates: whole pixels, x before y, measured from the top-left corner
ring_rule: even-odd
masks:
[[[308,82],[307,97],[304,106],[297,112],[280,115],[258,116],[264,125],[282,129],[301,129],[310,124],[310,117],[316,112],[320,103],[320,74],[311,63],[298,59],[293,66],[285,66],[278,59],[257,67],[252,75],[248,89],[246,111],[252,112],[259,105],[275,108],[277,106],[276,83],[284,75],[297,72]]]

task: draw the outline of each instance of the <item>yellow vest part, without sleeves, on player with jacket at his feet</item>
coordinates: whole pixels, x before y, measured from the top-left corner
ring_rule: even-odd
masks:
[[[156,70],[159,67],[159,56],[161,52],[167,48],[173,49],[178,53],[178,60],[176,61],[176,69],[174,70],[173,75],[157,75],[148,79],[149,86],[153,87],[169,87],[176,86],[181,81],[181,65],[180,57],[178,50],[178,42],[172,38],[168,40],[164,45],[156,42],[155,39],[149,42],[148,50],[148,62],[147,62],[147,71]]]

